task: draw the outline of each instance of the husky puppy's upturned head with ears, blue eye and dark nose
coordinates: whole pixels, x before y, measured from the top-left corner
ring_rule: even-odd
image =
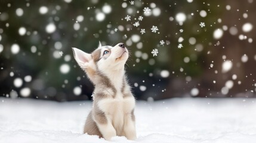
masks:
[[[98,48],[91,54],[77,48],[72,49],[76,62],[85,70],[92,82],[98,71],[108,74],[124,69],[129,56],[124,43],[118,43],[115,46],[101,46],[99,43]]]

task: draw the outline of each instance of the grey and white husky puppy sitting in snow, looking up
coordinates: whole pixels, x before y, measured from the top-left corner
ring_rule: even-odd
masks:
[[[136,139],[135,98],[125,76],[128,50],[124,43],[101,46],[91,54],[72,48],[76,62],[94,84],[92,110],[84,133],[106,140],[113,136]]]

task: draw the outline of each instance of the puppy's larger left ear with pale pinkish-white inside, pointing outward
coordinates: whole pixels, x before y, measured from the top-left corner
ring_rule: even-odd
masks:
[[[86,69],[88,62],[92,60],[91,54],[81,51],[78,48],[72,48],[76,62],[82,69]]]

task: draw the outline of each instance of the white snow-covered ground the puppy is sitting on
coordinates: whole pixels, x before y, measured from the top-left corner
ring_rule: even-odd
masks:
[[[0,142],[108,142],[83,135],[90,101],[53,102],[0,98]],[[113,142],[256,142],[255,99],[138,101],[137,140]]]

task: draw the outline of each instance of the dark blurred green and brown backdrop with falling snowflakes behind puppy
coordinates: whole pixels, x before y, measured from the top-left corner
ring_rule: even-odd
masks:
[[[91,100],[93,85],[71,47],[92,52],[101,41],[128,47],[138,100],[256,97],[255,7],[254,0],[0,0],[0,96]]]

